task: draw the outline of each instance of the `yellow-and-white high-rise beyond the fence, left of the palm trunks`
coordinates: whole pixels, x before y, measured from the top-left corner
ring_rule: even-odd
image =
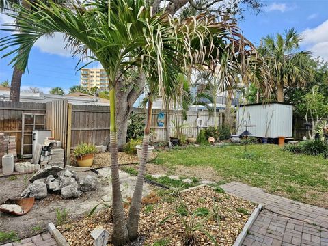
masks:
[[[101,68],[82,68],[80,85],[88,90],[95,86],[100,91],[109,90],[109,80],[105,70]]]

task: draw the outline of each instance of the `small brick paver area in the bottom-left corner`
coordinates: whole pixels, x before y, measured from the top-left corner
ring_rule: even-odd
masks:
[[[25,238],[20,241],[14,243],[5,243],[1,246],[57,246],[55,239],[51,236],[51,234],[44,233],[36,236],[32,236],[31,238]]]

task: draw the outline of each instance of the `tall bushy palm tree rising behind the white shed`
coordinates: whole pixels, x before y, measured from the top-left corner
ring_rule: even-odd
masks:
[[[270,83],[276,89],[278,102],[284,102],[284,87],[303,86],[312,80],[310,53],[298,52],[301,40],[295,29],[286,29],[284,34],[263,38],[258,49],[269,66]]]

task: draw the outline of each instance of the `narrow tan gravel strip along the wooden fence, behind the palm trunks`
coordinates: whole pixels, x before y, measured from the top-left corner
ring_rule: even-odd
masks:
[[[150,160],[154,160],[158,155],[158,152],[152,152]],[[74,157],[74,155],[70,155],[70,165],[77,165],[77,161]],[[118,164],[124,165],[124,164],[135,164],[139,163],[139,159],[137,155],[132,154],[126,154],[124,152],[118,152]],[[98,153],[94,155],[94,165],[92,165],[92,168],[98,168],[98,167],[110,167],[111,166],[111,153],[105,152],[105,153]]]

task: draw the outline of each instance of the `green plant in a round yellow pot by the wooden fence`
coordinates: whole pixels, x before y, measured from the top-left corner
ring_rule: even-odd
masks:
[[[91,143],[79,143],[74,149],[74,156],[79,167],[91,167],[94,161],[96,146]]]

